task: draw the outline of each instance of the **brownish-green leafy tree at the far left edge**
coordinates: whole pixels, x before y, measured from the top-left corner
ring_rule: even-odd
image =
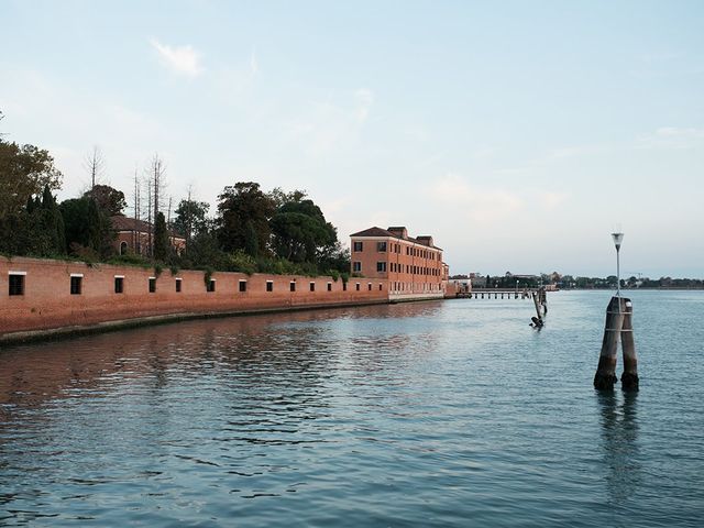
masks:
[[[20,213],[44,187],[57,190],[61,186],[62,173],[47,151],[0,140],[0,219]]]

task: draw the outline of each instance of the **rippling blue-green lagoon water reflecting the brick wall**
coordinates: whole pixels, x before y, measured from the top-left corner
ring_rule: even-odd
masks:
[[[182,322],[0,352],[0,525],[701,526],[704,293]],[[620,361],[619,370],[620,374]]]

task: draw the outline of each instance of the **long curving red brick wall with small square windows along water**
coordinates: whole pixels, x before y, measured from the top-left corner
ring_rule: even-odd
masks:
[[[24,295],[9,295],[9,274],[26,273]],[[82,274],[81,294],[70,295],[72,274]],[[114,293],[116,275],[124,276],[124,293]],[[388,300],[383,279],[351,279],[343,290],[342,279],[290,275],[216,272],[216,290],[206,292],[204,272],[183,271],[172,275],[164,270],[156,278],[156,292],[148,292],[154,270],[97,264],[0,256],[0,336],[29,330],[46,330],[102,321],[133,319],[166,314],[255,311],[305,306],[355,304]],[[176,293],[176,277],[182,292]],[[246,280],[241,293],[240,280]],[[266,292],[266,282],[274,290]],[[290,282],[296,292],[290,292]],[[360,290],[355,282],[361,283]],[[315,292],[310,292],[315,283]],[[331,292],[328,292],[328,283]],[[372,283],[369,289],[367,283]],[[381,289],[380,289],[381,287]]]

